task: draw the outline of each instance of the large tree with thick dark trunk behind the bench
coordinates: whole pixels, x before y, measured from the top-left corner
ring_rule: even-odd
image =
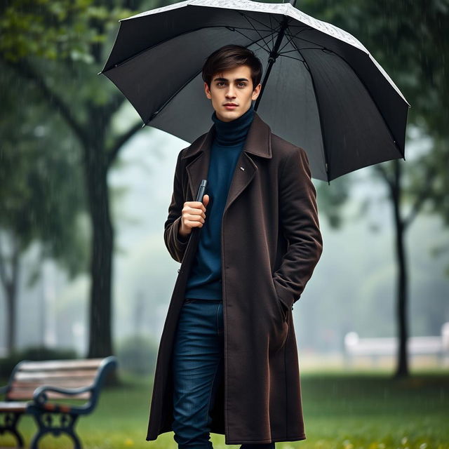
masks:
[[[97,76],[112,46],[118,20],[142,1],[11,0],[0,21],[0,60],[27,79],[48,107],[58,111],[79,141],[91,217],[91,292],[88,357],[114,354],[111,283],[114,228],[107,173],[140,119],[124,132],[112,126],[125,98]],[[166,2],[149,1],[149,8]],[[109,38],[109,39],[108,39]],[[62,81],[65,81],[62,83]]]

